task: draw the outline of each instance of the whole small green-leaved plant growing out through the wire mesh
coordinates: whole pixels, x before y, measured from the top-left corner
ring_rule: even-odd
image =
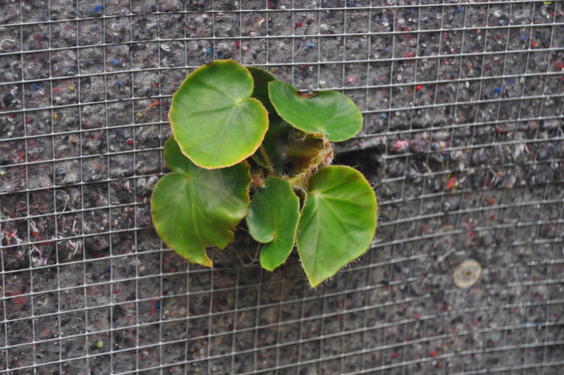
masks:
[[[345,95],[303,94],[265,70],[216,60],[188,75],[168,118],[171,173],[154,188],[152,219],[182,257],[212,266],[207,246],[226,247],[245,216],[264,244],[262,267],[276,269],[297,247],[312,287],[368,250],[374,191],[355,169],[330,165],[330,142],[362,128]]]

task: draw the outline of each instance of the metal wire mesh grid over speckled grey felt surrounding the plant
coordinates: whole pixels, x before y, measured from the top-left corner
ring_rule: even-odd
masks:
[[[564,374],[563,4],[436,3],[1,0],[0,372]],[[228,58],[362,110],[377,240],[317,290],[152,230],[171,94]]]

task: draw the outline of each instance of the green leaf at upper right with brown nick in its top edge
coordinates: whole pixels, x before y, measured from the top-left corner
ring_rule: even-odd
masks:
[[[269,96],[281,118],[306,133],[321,133],[331,142],[348,140],[362,129],[362,113],[341,92],[302,94],[286,82],[273,81]]]

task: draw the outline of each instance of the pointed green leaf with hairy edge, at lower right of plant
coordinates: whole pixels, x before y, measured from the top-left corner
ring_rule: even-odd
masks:
[[[355,169],[326,166],[312,174],[297,241],[312,287],[368,250],[377,209],[372,187]]]

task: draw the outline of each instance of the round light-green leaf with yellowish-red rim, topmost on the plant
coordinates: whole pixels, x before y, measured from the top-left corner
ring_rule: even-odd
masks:
[[[183,154],[202,168],[233,166],[251,156],[268,129],[268,113],[252,76],[233,60],[216,60],[188,75],[168,118]]]

